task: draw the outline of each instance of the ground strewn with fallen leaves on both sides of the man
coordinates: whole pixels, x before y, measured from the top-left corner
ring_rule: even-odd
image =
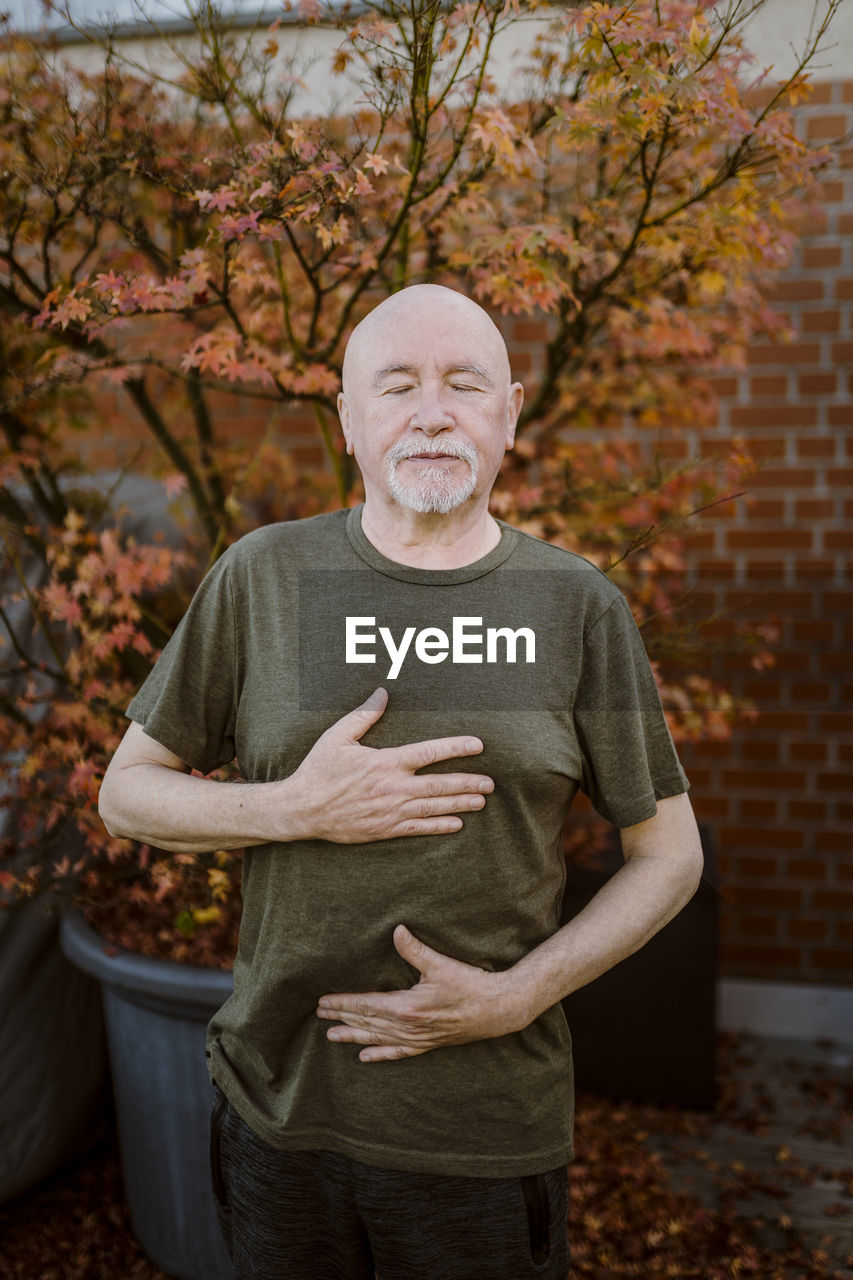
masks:
[[[573,1280],[853,1280],[853,1044],[721,1036],[711,1112],[578,1100]],[[0,1280],[169,1280],[110,1132],[0,1206]]]

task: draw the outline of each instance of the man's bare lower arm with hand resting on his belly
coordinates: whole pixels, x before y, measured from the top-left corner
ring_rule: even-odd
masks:
[[[686,795],[660,800],[653,818],[620,836],[625,865],[503,973],[441,955],[397,928],[394,946],[420,980],[405,991],[324,996],[318,1016],[342,1024],[329,1038],[369,1046],[361,1060],[378,1062],[505,1036],[639,950],[695,892],[702,846]]]

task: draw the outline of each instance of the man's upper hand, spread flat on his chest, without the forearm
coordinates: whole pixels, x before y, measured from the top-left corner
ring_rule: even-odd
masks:
[[[356,845],[394,836],[433,836],[459,831],[460,813],[482,809],[494,790],[482,773],[419,773],[439,760],[478,755],[478,737],[437,737],[403,746],[362,746],[388,694],[377,689],[355,710],[318,739],[298,769],[282,783],[288,838]],[[283,796],[282,796],[283,799]]]

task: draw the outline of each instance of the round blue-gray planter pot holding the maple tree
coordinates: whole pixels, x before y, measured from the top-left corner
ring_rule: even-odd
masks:
[[[231,973],[106,947],[78,911],[64,954],[104,998],[124,1189],[146,1254],[182,1280],[233,1280],[209,1167],[213,1105],[205,1029]]]

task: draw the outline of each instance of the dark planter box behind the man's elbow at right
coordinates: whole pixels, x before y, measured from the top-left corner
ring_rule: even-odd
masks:
[[[698,892],[651,942],[564,1000],[579,1088],[608,1098],[708,1108],[715,1102],[717,890],[710,833]],[[562,923],[621,865],[569,867]]]

